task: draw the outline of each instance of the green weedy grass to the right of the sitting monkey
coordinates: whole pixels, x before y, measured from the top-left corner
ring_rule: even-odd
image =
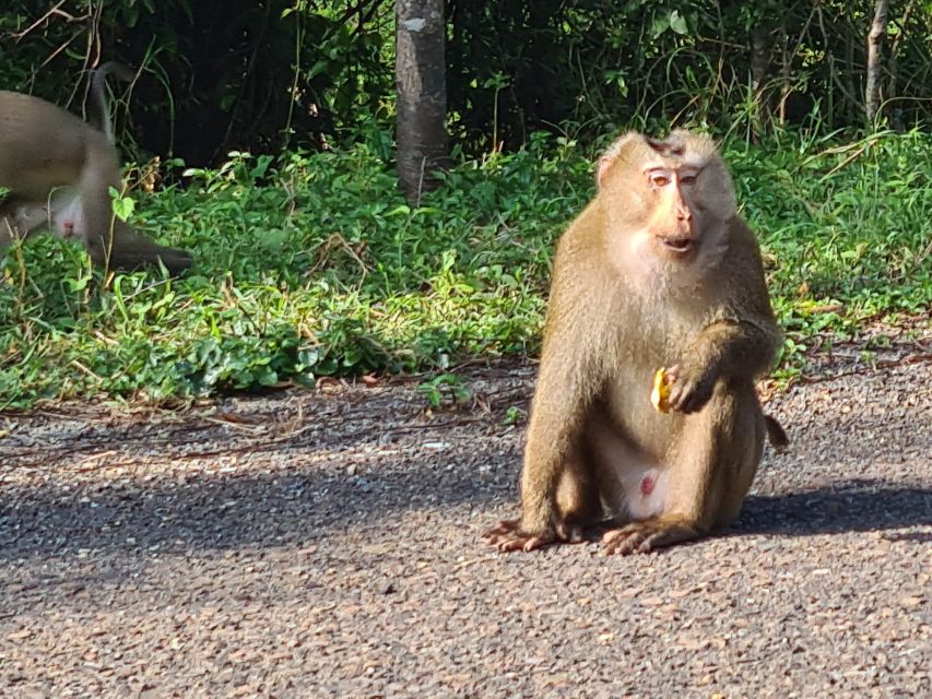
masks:
[[[878,133],[849,145],[729,153],[746,215],[777,259],[791,325],[842,303],[854,318],[929,308],[932,138]],[[811,325],[806,325],[811,327]]]

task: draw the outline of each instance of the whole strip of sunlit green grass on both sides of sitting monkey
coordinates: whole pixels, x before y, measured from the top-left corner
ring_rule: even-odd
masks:
[[[816,333],[929,310],[930,151],[920,131],[727,149],[787,331],[784,376]],[[534,353],[553,242],[591,197],[591,157],[540,138],[461,163],[410,209],[364,146],[234,155],[137,197],[134,224],[194,252],[181,280],[102,280],[79,249],[35,237],[2,262],[0,407],[177,402]]]

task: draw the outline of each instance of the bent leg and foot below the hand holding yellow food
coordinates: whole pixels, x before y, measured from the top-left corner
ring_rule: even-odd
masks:
[[[649,553],[730,524],[754,479],[765,434],[753,384],[719,381],[705,407],[683,422],[670,449],[662,513],[606,532],[605,553]]]

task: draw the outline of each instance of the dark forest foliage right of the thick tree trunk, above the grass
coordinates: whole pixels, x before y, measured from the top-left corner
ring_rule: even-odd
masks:
[[[788,125],[822,133],[866,126],[873,3],[449,4],[451,128],[476,152],[517,147],[539,129],[594,138],[672,121],[756,138]],[[928,2],[890,5],[882,92],[898,129],[932,115],[931,22]]]

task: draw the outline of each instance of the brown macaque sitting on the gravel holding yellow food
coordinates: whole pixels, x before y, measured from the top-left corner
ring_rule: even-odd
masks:
[[[579,542],[647,553],[731,523],[786,434],[755,378],[780,345],[754,234],[715,144],[628,133],[561,238],[521,472],[500,552]],[[651,404],[658,369],[664,407]]]

